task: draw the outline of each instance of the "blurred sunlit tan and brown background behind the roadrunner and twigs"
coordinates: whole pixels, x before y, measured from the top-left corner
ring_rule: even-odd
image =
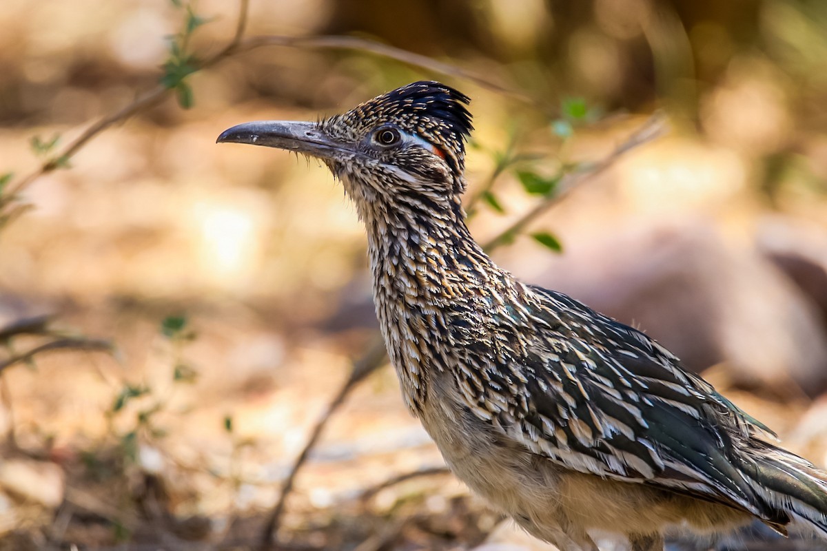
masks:
[[[553,203],[499,264],[646,330],[827,464],[825,2],[247,9],[220,54],[227,0],[0,3],[0,366],[16,360],[0,368],[0,549],[253,549],[376,321],[363,230],[327,170],[215,139],[423,78],[472,98],[478,240]],[[328,35],[433,63],[245,42]],[[63,156],[159,83],[168,97]],[[667,135],[613,154],[654,112]],[[17,361],[87,339],[114,354]],[[441,467],[380,368],[310,451],[275,549],[550,549]]]

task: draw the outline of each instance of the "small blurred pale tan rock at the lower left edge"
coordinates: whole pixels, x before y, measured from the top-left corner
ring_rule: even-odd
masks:
[[[63,501],[65,473],[48,461],[8,459],[0,463],[0,487],[26,501],[56,507]]]

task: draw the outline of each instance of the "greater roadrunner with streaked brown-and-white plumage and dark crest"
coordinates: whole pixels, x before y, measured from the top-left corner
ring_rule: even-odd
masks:
[[[318,122],[233,126],[219,142],[322,159],[364,221],[376,314],[404,401],[448,466],[562,551],[634,551],[758,518],[827,537],[827,474],[653,339],[517,281],[471,237],[468,97],[404,86]]]

